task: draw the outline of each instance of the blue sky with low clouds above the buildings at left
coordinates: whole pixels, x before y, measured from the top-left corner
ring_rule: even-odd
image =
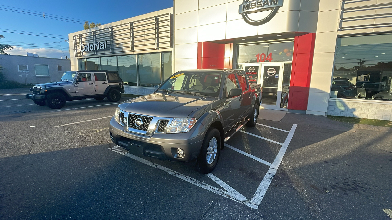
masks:
[[[82,21],[88,20],[89,22],[105,24],[172,6],[173,0],[2,0],[0,1],[0,35],[3,35],[5,38],[1,39],[0,43],[22,45],[13,46],[15,48],[14,50],[7,50],[6,52],[9,54],[26,56],[26,52],[32,52],[42,57],[69,57],[68,42],[65,39],[59,38],[66,38],[68,40],[69,33],[83,30],[83,23],[71,23],[50,19],[48,17],[49,14],[51,14],[49,16],[69,17],[65,19],[70,20],[76,18]],[[12,10],[9,9],[18,10],[19,13],[11,12]],[[36,16],[22,14],[24,12],[36,13]],[[43,13],[47,15],[46,18],[42,16]],[[29,32],[44,33],[36,35],[54,34],[45,36],[55,38],[10,32],[22,32],[26,34],[35,34]]]

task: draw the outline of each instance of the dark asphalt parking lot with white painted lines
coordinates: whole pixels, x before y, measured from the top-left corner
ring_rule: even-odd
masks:
[[[115,146],[107,99],[53,110],[27,91],[0,90],[0,219],[392,218],[390,128],[258,120],[205,175]]]

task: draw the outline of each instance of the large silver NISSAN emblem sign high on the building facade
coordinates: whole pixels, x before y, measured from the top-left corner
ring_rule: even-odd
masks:
[[[278,12],[279,7],[283,6],[283,0],[243,0],[238,13],[242,15],[243,20],[250,25],[262,25],[269,22]],[[261,20],[254,20],[249,14],[262,11],[270,11],[270,13]]]

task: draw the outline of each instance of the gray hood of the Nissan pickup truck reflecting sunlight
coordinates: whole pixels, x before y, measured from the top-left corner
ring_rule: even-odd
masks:
[[[214,100],[214,97],[152,93],[130,99],[118,106],[121,110],[134,114],[186,118],[194,110]]]

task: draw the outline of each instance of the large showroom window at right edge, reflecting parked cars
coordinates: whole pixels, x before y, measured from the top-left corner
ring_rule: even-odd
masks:
[[[392,101],[392,34],[338,38],[331,98]]]

